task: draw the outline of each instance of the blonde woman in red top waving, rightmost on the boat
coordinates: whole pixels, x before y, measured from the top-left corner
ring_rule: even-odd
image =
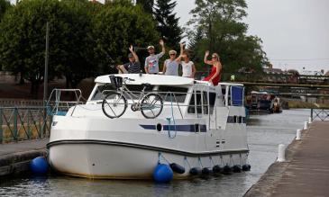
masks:
[[[222,75],[222,64],[219,60],[219,56],[217,53],[212,54],[211,60],[207,60],[208,56],[209,56],[209,50],[206,50],[204,62],[205,64],[211,65],[213,67],[211,68],[210,75],[206,76],[204,81],[208,81],[213,85],[218,85]]]

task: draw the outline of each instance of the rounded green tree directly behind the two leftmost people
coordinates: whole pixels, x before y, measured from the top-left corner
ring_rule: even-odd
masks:
[[[117,72],[109,67],[115,63],[127,61],[128,48],[131,44],[145,47],[156,43],[159,35],[148,13],[133,4],[106,4],[94,17],[95,56],[102,72]],[[140,54],[139,54],[140,55]],[[143,59],[141,56],[139,57]]]

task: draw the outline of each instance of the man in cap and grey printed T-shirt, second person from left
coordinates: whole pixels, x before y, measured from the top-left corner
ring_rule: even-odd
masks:
[[[145,58],[145,73],[146,74],[158,74],[159,73],[159,59],[166,52],[163,40],[160,40],[159,43],[162,47],[162,51],[159,54],[154,54],[154,46],[147,47],[150,56]]]

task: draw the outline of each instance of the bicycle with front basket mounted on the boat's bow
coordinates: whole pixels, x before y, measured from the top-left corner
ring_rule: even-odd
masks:
[[[121,76],[109,76],[111,85],[114,85],[116,91],[105,90],[105,98],[102,102],[102,110],[105,115],[111,119],[119,118],[123,115],[128,107],[128,102],[124,94],[129,96],[133,101],[131,109],[133,112],[141,111],[142,115],[147,119],[154,119],[160,115],[163,109],[163,100],[160,94],[149,93],[145,94],[145,90],[150,87],[150,84],[142,84],[142,92],[139,96],[133,94],[126,86],[126,81],[134,81],[132,78]],[[133,97],[138,97],[135,102]]]

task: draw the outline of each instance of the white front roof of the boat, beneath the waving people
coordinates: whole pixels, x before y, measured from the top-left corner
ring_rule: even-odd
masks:
[[[134,79],[129,81],[131,85],[151,84],[151,85],[193,85],[194,79],[183,76],[164,76],[164,75],[151,75],[151,74],[114,74],[106,76],[97,76],[96,83],[110,84],[109,76],[121,76]]]

